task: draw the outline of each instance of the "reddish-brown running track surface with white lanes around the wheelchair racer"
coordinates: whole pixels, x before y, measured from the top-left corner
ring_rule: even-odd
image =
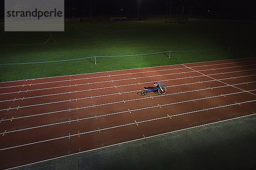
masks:
[[[0,169],[254,112],[256,57],[2,82]]]

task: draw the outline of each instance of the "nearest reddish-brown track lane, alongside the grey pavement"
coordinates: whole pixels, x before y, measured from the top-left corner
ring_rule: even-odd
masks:
[[[217,111],[218,113],[219,111]],[[204,112],[202,115],[205,116],[205,118],[208,118],[208,116],[206,116],[207,112]],[[207,113],[208,114],[208,113]],[[244,113],[243,113],[244,114]],[[200,114],[200,118],[202,116]],[[215,114],[211,114],[211,115],[215,115]],[[119,127],[119,128],[114,128],[114,129],[108,129],[108,130],[101,130],[101,133],[90,133],[89,135],[80,135],[80,139],[76,139],[75,136],[71,137],[72,140],[68,141],[67,139],[60,139],[60,141],[58,142],[44,142],[44,143],[40,143],[40,144],[36,144],[36,145],[31,145],[31,146],[24,146],[24,147],[19,147],[19,148],[14,148],[14,149],[10,149],[8,151],[8,153],[5,153],[5,156],[3,156],[3,152],[0,152],[0,157],[3,158],[2,160],[4,160],[5,162],[13,162],[15,163],[12,164],[13,166],[18,166],[20,165],[20,161],[24,159],[24,157],[26,157],[26,160],[28,162],[35,162],[38,161],[38,157],[40,157],[41,159],[50,159],[52,157],[49,157],[49,154],[54,155],[53,157],[58,157],[59,155],[67,155],[68,151],[70,151],[70,153],[79,153],[79,147],[82,147],[82,149],[80,148],[80,151],[83,150],[90,150],[93,148],[97,148],[97,147],[102,147],[106,146],[106,145],[110,145],[110,144],[115,144],[115,143],[120,143],[120,142],[126,142],[129,139],[141,139],[143,138],[142,134],[145,133],[144,136],[151,136],[154,134],[159,134],[159,132],[163,133],[163,132],[170,132],[173,130],[173,128],[175,129],[181,129],[183,126],[187,127],[191,127],[191,125],[195,125],[195,120],[198,119],[186,119],[186,118],[175,118],[172,116],[172,122],[171,125],[168,125],[168,123],[170,124],[170,119],[168,119],[169,117],[166,117],[164,119],[160,120],[156,120],[155,122],[147,122],[147,125],[143,125],[143,122],[137,122],[139,125],[136,126],[136,123],[133,124],[133,126],[124,126],[124,127]],[[212,118],[214,121],[216,122],[215,119],[217,119],[218,117],[214,117]],[[167,120],[168,119],[168,120]],[[188,120],[186,121],[186,125],[180,125],[180,124],[175,124],[174,120],[177,120],[177,123],[182,122],[182,120]],[[211,119],[211,121],[212,121]],[[190,121],[189,121],[190,120]],[[202,120],[201,122],[203,122],[204,125],[206,120]],[[189,126],[188,126],[189,125]],[[134,128],[136,127],[136,129]],[[141,128],[141,130],[137,130],[137,128]],[[144,127],[144,128],[143,128]],[[99,131],[98,131],[99,132]],[[132,132],[132,134],[131,134]],[[120,135],[122,134],[122,135]],[[101,136],[100,136],[101,135]],[[82,138],[84,136],[84,138]],[[100,136],[100,137],[99,137]],[[78,136],[77,136],[78,137]],[[129,137],[129,138],[128,138]],[[111,142],[112,141],[112,142]],[[114,141],[114,142],[113,142]],[[81,143],[82,142],[82,143]],[[91,144],[94,144],[93,146],[91,146]],[[68,145],[66,145],[68,144]],[[69,146],[69,147],[68,147]],[[71,146],[71,147],[70,147]],[[46,149],[42,149],[42,148],[51,148],[54,147],[53,150],[46,150]],[[65,149],[63,149],[65,148]],[[56,149],[56,150],[55,150]],[[57,151],[60,150],[61,152],[51,152],[51,151]],[[22,152],[24,154],[24,156],[22,157],[21,155],[17,155],[15,156],[15,158],[13,158],[13,154],[14,153],[20,153]],[[38,153],[41,153],[40,156],[38,155]],[[61,153],[61,154],[59,154]],[[29,155],[29,156],[28,156]],[[32,155],[32,156],[31,156]],[[6,167],[6,165],[3,165]]]

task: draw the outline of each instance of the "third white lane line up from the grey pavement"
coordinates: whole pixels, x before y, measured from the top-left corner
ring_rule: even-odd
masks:
[[[251,91],[256,91],[256,90],[251,90]],[[165,104],[165,105],[151,106],[151,107],[147,107],[147,108],[139,108],[139,109],[134,109],[134,110],[128,109],[128,111],[121,111],[121,112],[109,113],[109,114],[105,114],[105,115],[92,116],[92,117],[81,118],[81,119],[74,119],[74,120],[69,120],[69,121],[65,121],[65,122],[58,122],[58,123],[41,125],[41,126],[36,126],[36,127],[28,127],[28,128],[19,129],[19,130],[12,130],[12,131],[3,132],[3,133],[0,133],[0,134],[18,132],[18,131],[23,131],[23,130],[30,130],[30,129],[35,129],[35,128],[39,128],[39,127],[47,127],[47,126],[52,126],[52,125],[59,125],[59,124],[63,124],[63,123],[76,122],[76,121],[81,121],[81,120],[86,120],[86,119],[94,119],[94,118],[99,118],[99,117],[103,117],[103,116],[110,116],[110,115],[115,115],[115,114],[120,114],[120,113],[127,113],[127,112],[131,113],[131,111],[140,111],[140,110],[144,110],[144,109],[156,108],[156,107],[159,107],[159,106],[176,105],[176,104],[185,103],[185,102],[194,102],[194,101],[203,100],[203,99],[210,99],[210,98],[216,98],[216,97],[220,97],[220,96],[224,96],[224,95],[228,96],[228,95],[241,94],[241,93],[244,93],[244,91],[237,92],[237,93],[232,93],[232,94],[221,94],[221,95],[218,95],[218,96],[210,96],[210,97],[205,97],[205,98],[185,100],[185,101],[181,101],[181,102],[174,102],[174,103],[169,103],[169,104]],[[240,105],[239,103],[235,103],[235,104]],[[223,107],[223,106],[220,106],[220,107]],[[12,119],[15,119],[15,118],[12,118]],[[19,119],[19,118],[16,118],[16,119]],[[5,119],[5,120],[2,120],[2,121],[6,121],[6,120],[9,120],[9,119]]]

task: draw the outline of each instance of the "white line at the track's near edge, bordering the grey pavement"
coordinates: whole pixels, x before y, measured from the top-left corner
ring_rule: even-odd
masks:
[[[99,149],[105,149],[105,148],[113,147],[113,146],[120,145],[120,144],[126,144],[126,143],[130,143],[130,142],[136,142],[136,141],[140,141],[140,140],[144,140],[144,139],[149,139],[149,138],[154,138],[154,137],[158,137],[158,136],[163,136],[163,135],[167,135],[167,134],[170,134],[170,133],[176,133],[176,132],[180,132],[180,131],[184,131],[184,130],[190,130],[190,129],[194,129],[196,127],[204,127],[204,126],[207,126],[207,125],[218,124],[220,122],[228,122],[228,121],[231,121],[231,120],[241,119],[241,118],[248,117],[248,116],[253,116],[253,115],[256,115],[256,113],[245,115],[245,116],[239,116],[239,117],[235,117],[235,118],[231,118],[231,119],[221,120],[221,121],[218,121],[218,122],[207,123],[207,124],[204,124],[204,125],[187,127],[187,128],[184,128],[184,129],[175,130],[175,131],[171,131],[171,132],[160,133],[160,134],[157,134],[157,135],[147,136],[147,137],[144,137],[144,138],[134,139],[134,140],[131,140],[131,141],[121,142],[121,143],[117,143],[117,144],[111,144],[111,145],[108,145],[108,146],[99,147],[99,148],[90,149],[90,150],[85,150],[85,151],[78,152],[78,153],[72,153],[72,154],[69,154],[69,155],[59,156],[59,157],[55,157],[55,158],[51,158],[51,159],[46,159],[46,160],[43,160],[43,161],[37,161],[37,162],[30,163],[30,164],[24,164],[24,165],[21,165],[21,166],[18,166],[18,167],[12,167],[12,168],[9,168],[9,169],[6,169],[6,170],[12,170],[12,169],[15,169],[15,168],[30,166],[30,165],[34,165],[34,164],[38,164],[38,163],[43,163],[43,162],[46,162],[46,161],[52,161],[52,160],[55,160],[55,159],[65,158],[67,156],[75,156],[75,155],[78,155],[78,154],[81,154],[81,153],[87,153],[87,152],[90,152],[90,151],[99,150]]]

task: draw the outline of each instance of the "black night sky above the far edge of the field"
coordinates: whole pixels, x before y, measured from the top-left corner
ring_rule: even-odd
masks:
[[[4,12],[4,0],[0,0],[1,18]],[[65,0],[65,16],[71,7],[79,10],[76,15],[90,15],[90,5],[92,15],[127,15],[127,17],[137,16],[138,0]],[[173,6],[180,6],[183,2],[184,13],[188,12],[188,6],[195,8],[195,14],[212,18],[236,18],[256,20],[256,0],[139,0],[140,15],[143,14],[165,14],[166,5],[172,2]],[[70,8],[69,8],[70,7]],[[123,10],[121,10],[123,9]],[[208,11],[210,10],[210,11]]]

